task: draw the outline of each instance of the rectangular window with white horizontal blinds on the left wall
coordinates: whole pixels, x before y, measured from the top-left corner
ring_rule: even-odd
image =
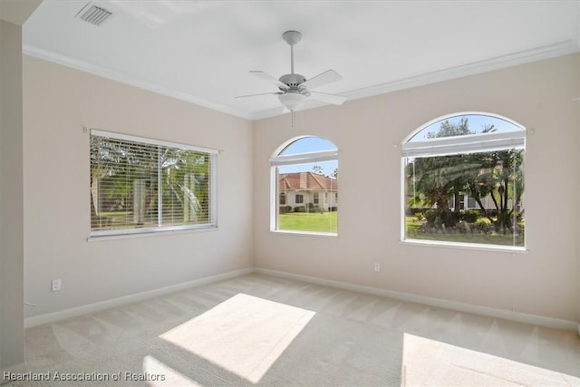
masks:
[[[217,150],[91,131],[91,236],[216,227]]]

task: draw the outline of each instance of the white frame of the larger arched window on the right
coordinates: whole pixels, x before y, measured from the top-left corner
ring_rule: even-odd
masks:
[[[516,131],[501,131],[498,133],[477,133],[452,137],[433,138],[429,140],[411,141],[420,131],[425,130],[431,124],[449,120],[451,118],[462,116],[488,116],[495,119],[507,121],[508,123],[517,127]],[[486,140],[481,140],[485,136]],[[503,117],[498,114],[482,112],[482,111],[462,111],[447,114],[431,120],[411,133],[401,141],[401,238],[403,244],[433,246],[433,247],[460,247],[468,249],[482,249],[482,250],[499,250],[511,252],[526,252],[527,238],[524,238],[524,246],[504,246],[491,244],[476,244],[466,242],[449,242],[442,240],[430,239],[410,239],[407,238],[406,225],[406,179],[405,179],[405,159],[409,157],[430,157],[430,156],[445,156],[453,154],[466,154],[476,152],[486,152],[493,150],[509,150],[513,148],[522,148],[524,150],[524,165],[526,165],[526,137],[527,129],[518,123]],[[524,179],[525,179],[524,173]]]

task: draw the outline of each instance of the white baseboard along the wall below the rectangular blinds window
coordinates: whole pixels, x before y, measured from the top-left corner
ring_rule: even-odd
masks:
[[[193,281],[184,282],[177,285],[169,285],[166,287],[161,287],[160,289],[148,290],[146,292],[137,293],[135,295],[125,295],[119,298],[113,298],[111,300],[106,300],[98,303],[93,303],[89,305],[77,306],[70,309],[65,309],[58,312],[53,312],[49,314],[36,315],[34,317],[28,317],[24,319],[24,328],[31,328],[33,326],[53,323],[55,321],[64,320],[66,318],[76,317],[82,314],[90,314],[94,312],[99,312],[107,308],[127,305],[131,303],[140,302],[153,297],[159,297],[160,295],[169,295],[170,293],[179,292],[181,290],[186,290],[191,287],[199,285],[208,285],[214,282],[223,281],[229,278],[234,278],[237,276],[245,276],[247,274],[253,273],[254,268],[249,267],[241,270],[231,271],[224,274],[219,274],[217,276],[207,276]]]

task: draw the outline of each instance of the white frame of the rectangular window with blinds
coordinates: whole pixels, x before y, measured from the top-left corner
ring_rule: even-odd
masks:
[[[133,136],[129,134],[102,131],[99,129],[90,129],[89,138],[92,136],[99,136],[109,138],[111,140],[123,140],[131,141],[135,143],[147,144],[152,146],[160,146],[167,148],[176,148],[179,150],[192,150],[201,153],[207,153],[209,158],[209,173],[208,173],[208,194],[209,194],[209,208],[208,208],[208,222],[189,224],[189,225],[169,225],[163,226],[158,224],[156,227],[132,227],[132,228],[121,228],[121,229],[108,229],[108,230],[93,230],[92,226],[89,226],[89,240],[107,237],[138,237],[151,234],[160,234],[175,231],[189,231],[189,230],[208,230],[218,228],[218,154],[219,150],[214,150],[211,148],[199,147],[189,144],[183,144],[179,142],[171,142],[166,140],[156,140],[146,137]],[[90,151],[89,151],[90,152]],[[158,165],[158,174],[160,173],[160,166]],[[158,175],[159,177],[159,175]],[[90,187],[90,185],[89,185]],[[91,188],[89,188],[91,189]],[[92,206],[92,203],[91,203]],[[160,207],[157,207],[158,217],[162,218],[159,214]]]

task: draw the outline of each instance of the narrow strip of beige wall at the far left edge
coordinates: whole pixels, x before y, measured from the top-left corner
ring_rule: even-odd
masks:
[[[0,18],[0,372],[24,363],[21,58],[22,28]]]

